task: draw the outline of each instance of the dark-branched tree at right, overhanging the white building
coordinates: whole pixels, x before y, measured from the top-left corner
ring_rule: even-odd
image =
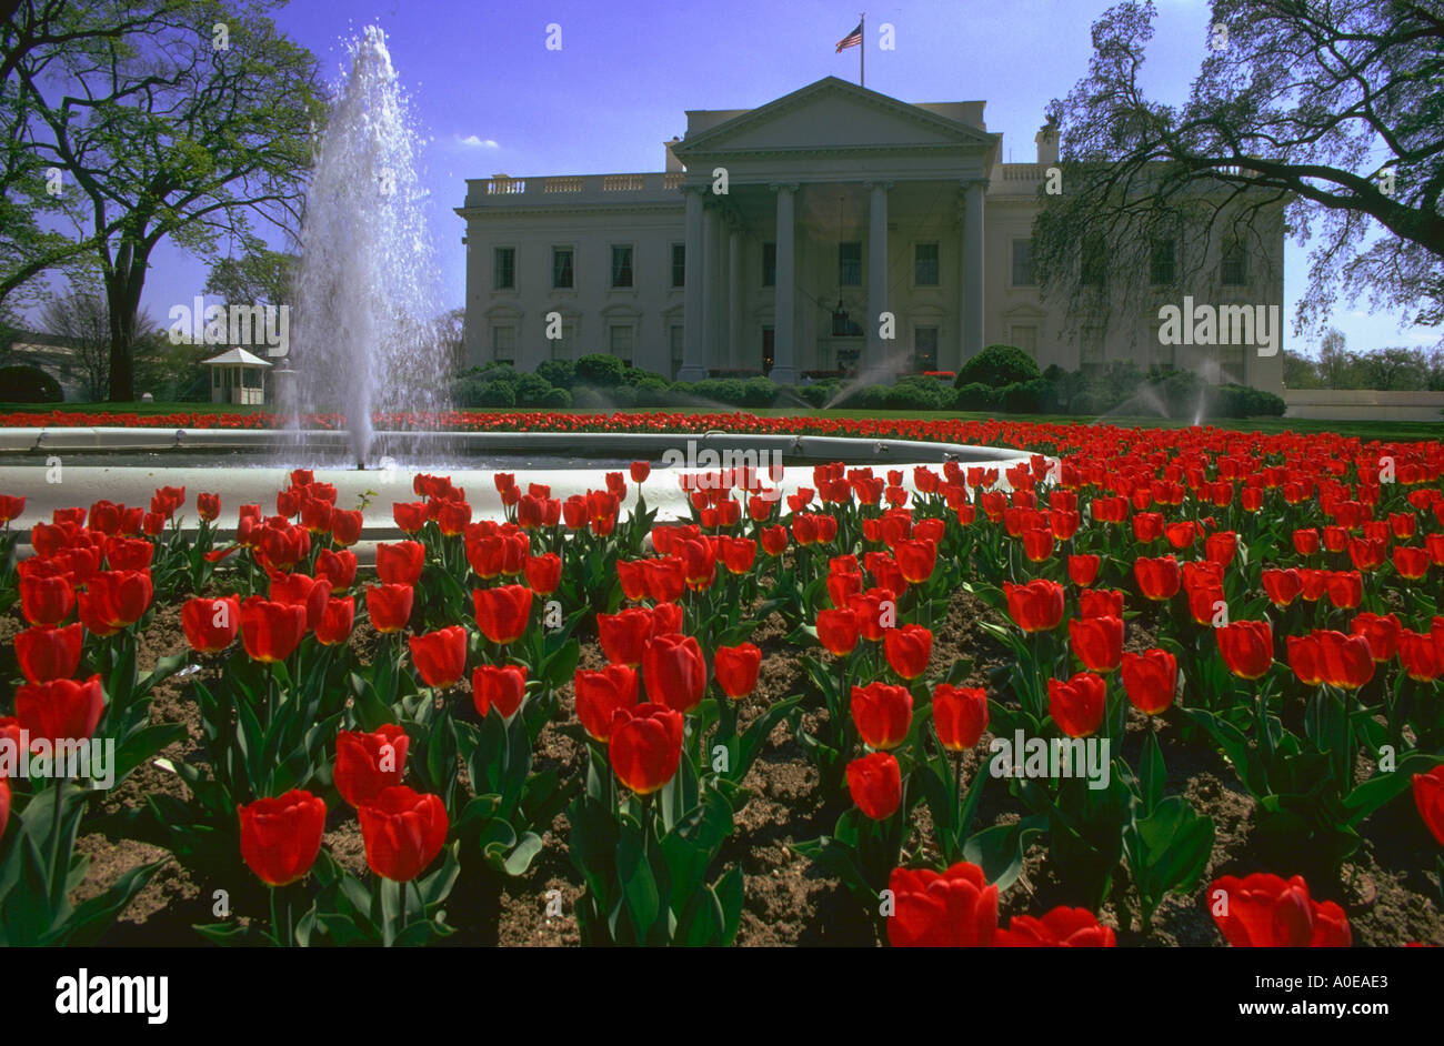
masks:
[[[1089,75],[1053,102],[1064,192],[1041,198],[1034,228],[1044,290],[1071,286],[1074,315],[1106,313],[1126,293],[1136,304],[1165,277],[1212,294],[1219,251],[1276,242],[1287,216],[1314,244],[1300,329],[1340,294],[1444,320],[1438,3],[1213,0],[1201,68],[1178,107],[1141,85],[1154,19],[1152,3],[1110,7],[1093,25]],[[1125,276],[1106,281],[1103,302],[1077,286],[1089,242]],[[1180,242],[1168,264],[1174,248],[1162,244]]]

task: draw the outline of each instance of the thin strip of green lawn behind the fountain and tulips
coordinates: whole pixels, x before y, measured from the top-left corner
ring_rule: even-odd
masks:
[[[179,414],[179,413],[196,413],[196,414],[257,414],[264,413],[266,407],[241,407],[237,404],[211,404],[211,403],[56,403],[56,404],[17,404],[17,403],[0,403],[0,414],[12,411],[61,411],[66,414],[100,414],[100,413],[117,413],[117,414]],[[485,408],[482,408],[485,410]],[[697,407],[697,408],[674,408],[674,407],[635,407],[635,408],[619,408],[618,413],[622,414],[647,414],[657,410],[692,413],[692,414],[710,414],[716,411],[726,410],[723,407]],[[507,413],[507,411],[495,411]],[[612,411],[575,411],[579,414],[602,414]],[[757,414],[760,417],[787,417],[791,414],[812,414],[817,417],[838,417],[838,418],[898,418],[898,420],[913,420],[913,421],[933,421],[933,420],[954,420],[954,421],[988,421],[991,418],[999,418],[1006,421],[1035,421],[1041,424],[1112,424],[1125,428],[1183,428],[1191,424],[1188,420],[1174,420],[1161,417],[1069,417],[1063,414],[983,414],[983,413],[953,413],[953,411],[901,411],[901,410],[813,410],[800,411],[790,407],[773,407],[773,408],[745,408],[742,413]],[[1261,433],[1339,433],[1340,436],[1357,436],[1362,440],[1437,440],[1444,439],[1444,417],[1440,421],[1314,421],[1307,418],[1204,418],[1204,424],[1216,426],[1220,428],[1236,428],[1242,431],[1261,431]]]

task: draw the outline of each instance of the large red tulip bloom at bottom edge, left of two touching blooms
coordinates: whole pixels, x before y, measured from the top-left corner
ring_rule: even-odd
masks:
[[[998,887],[976,864],[959,863],[941,874],[931,869],[894,869],[888,877],[894,948],[991,948],[998,933]]]

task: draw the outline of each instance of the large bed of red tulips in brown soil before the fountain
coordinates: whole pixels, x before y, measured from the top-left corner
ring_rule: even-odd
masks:
[[[1057,457],[783,499],[682,473],[674,525],[638,462],[566,501],[498,473],[504,519],[296,472],[264,508],[62,509],[20,563],[7,528],[0,933],[143,906],[127,939],[1444,944],[1444,446],[549,428],[719,418]],[[374,512],[407,538],[371,574]],[[104,765],[36,762],[82,742]],[[157,890],[204,903],[166,922]]]

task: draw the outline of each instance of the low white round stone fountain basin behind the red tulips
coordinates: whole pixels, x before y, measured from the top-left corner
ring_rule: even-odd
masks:
[[[812,466],[819,463],[900,469],[902,485],[913,489],[914,466],[936,470],[956,462],[963,469],[998,469],[998,485],[1005,488],[1006,469],[1031,457],[1024,450],[959,443],[736,433],[378,433],[377,446],[387,443],[404,444],[406,459],[387,462],[387,467],[355,469],[341,466],[349,447],[344,431],[308,431],[306,446],[300,447],[296,433],[284,430],[6,428],[0,430],[0,452],[9,452],[0,456],[6,466],[0,492],[25,496],[25,512],[10,525],[29,529],[49,522],[56,508],[88,506],[100,499],[147,504],[159,486],[185,486],[192,505],[198,492],[219,495],[221,534],[227,537],[234,532],[240,505],[258,504],[273,512],[290,467],[310,467],[318,482],[335,485],[339,508],[355,508],[362,496],[370,499],[358,548],[364,555],[375,541],[401,537],[391,504],[419,501],[412,480],[420,472],[446,475],[465,489],[474,519],[501,519],[497,472],[516,473],[520,483],[544,483],[553,498],[565,499],[604,489],[606,472],[625,475],[627,463],[648,460],[653,472],[640,485],[647,506],[658,509],[658,519],[686,519],[687,495],[679,482],[683,473],[742,465],[765,473],[770,463],[781,462],[777,486],[786,496],[813,486]],[[321,463],[318,450],[334,452],[336,467]],[[198,452],[214,454],[214,463],[189,460]],[[295,453],[295,462],[286,460],[287,452]],[[136,460],[137,453],[147,460]],[[105,463],[91,463],[98,454]],[[172,456],[182,460],[163,463]],[[46,467],[55,462],[61,465],[58,475]],[[627,476],[622,512],[635,505],[637,486]],[[193,511],[180,521],[182,527],[196,522]]]

